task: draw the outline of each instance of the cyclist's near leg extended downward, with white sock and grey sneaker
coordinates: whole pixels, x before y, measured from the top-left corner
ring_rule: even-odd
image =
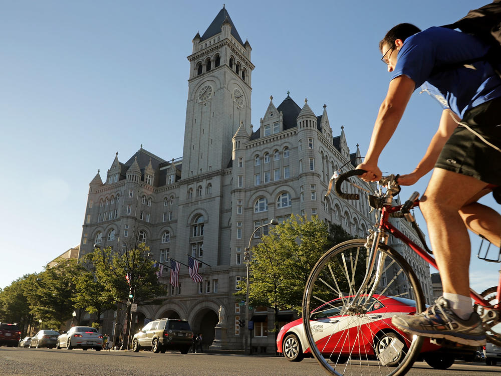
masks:
[[[392,323],[399,329],[470,346],[485,344],[480,318],[469,299],[470,241],[459,214],[485,185],[470,176],[434,169],[419,206],[428,226],[446,299],[440,297],[435,305],[414,316],[395,315]],[[459,309],[455,312],[454,308]]]

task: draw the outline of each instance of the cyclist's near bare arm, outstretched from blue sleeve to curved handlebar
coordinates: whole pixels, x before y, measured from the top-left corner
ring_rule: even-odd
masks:
[[[381,178],[381,170],[377,166],[379,155],[395,132],[414,89],[414,81],[407,76],[402,75],[390,81],[386,98],[379,108],[364,162],[357,166],[367,170],[361,175],[364,180]]]

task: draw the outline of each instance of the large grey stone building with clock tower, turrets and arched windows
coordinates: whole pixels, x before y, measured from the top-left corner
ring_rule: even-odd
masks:
[[[226,327],[220,346],[242,349],[238,320],[245,315],[233,294],[245,278],[243,252],[258,226],[294,213],[318,216],[365,237],[374,219],[364,201],[334,195],[323,199],[334,171],[360,161],[358,145],[350,153],[343,127],[333,136],[325,105],[316,115],[307,100],[300,107],[288,93],[276,106],[271,97],[253,127],[252,49],[226,9],[192,42],[182,158],[165,160],[141,146],[126,162],[117,153],[104,182],[98,171],[90,182],[80,256],[91,252],[94,243],[120,248],[144,241],[160,262],[170,257],[187,264],[187,254],[203,261],[202,283],[194,283],[182,266],[180,286],[169,286],[161,306],[139,307],[137,325],[145,318],[185,318],[210,345],[222,306]],[[411,232],[405,222],[399,226]],[[266,234],[267,228],[261,231]],[[417,260],[416,265],[431,297],[429,271]],[[168,269],[161,282],[169,283]],[[263,307],[250,313],[257,352],[275,351],[275,335],[269,331],[273,315]],[[291,317],[283,312],[280,320]]]

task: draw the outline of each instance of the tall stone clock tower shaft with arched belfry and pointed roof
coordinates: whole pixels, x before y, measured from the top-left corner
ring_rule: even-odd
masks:
[[[240,122],[250,133],[251,50],[224,7],[205,33],[193,38],[182,179],[227,168]]]

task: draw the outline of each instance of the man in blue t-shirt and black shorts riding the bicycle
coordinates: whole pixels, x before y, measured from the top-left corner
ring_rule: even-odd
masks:
[[[392,75],[366,157],[357,166],[367,170],[364,180],[381,177],[379,155],[417,87],[425,82],[432,85],[444,105],[424,157],[413,172],[399,178],[400,184],[411,185],[434,166],[420,208],[443,296],[425,312],[396,315],[392,322],[408,333],[482,345],[485,333],[469,298],[467,229],[500,246],[501,216],[477,200],[501,185],[501,78],[485,60],[461,66],[484,56],[488,46],[446,28],[420,31],[414,25],[399,24],[386,34],[379,49]],[[458,126],[459,120],[464,125]]]

